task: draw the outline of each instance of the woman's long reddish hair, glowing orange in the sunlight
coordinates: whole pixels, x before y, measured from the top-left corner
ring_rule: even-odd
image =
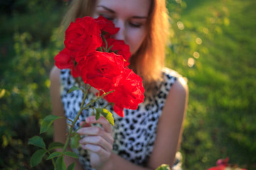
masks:
[[[141,47],[130,58],[129,67],[142,77],[144,87],[151,89],[161,79],[161,68],[164,67],[166,38],[168,38],[169,21],[165,0],[150,0],[149,19],[146,23],[146,38]],[[67,28],[75,18],[92,16],[95,0],[73,0],[62,25]]]

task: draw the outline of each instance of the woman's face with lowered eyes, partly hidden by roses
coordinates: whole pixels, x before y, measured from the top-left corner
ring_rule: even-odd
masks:
[[[146,36],[150,0],[97,0],[94,18],[104,16],[113,21],[119,32],[112,38],[124,40],[132,55]]]

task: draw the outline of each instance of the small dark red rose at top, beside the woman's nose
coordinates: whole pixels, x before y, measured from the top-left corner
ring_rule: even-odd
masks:
[[[114,23],[103,16],[99,16],[95,19],[95,21],[100,26],[100,30],[102,30],[105,38],[110,37],[110,35],[114,35],[119,31],[119,28],[114,27]]]

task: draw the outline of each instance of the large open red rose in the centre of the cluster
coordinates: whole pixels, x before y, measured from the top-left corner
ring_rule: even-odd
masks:
[[[122,78],[124,60],[113,52],[91,52],[78,64],[85,84],[105,92],[112,91]]]

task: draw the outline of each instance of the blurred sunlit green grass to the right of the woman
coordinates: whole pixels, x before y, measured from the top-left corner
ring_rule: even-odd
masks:
[[[255,169],[256,3],[186,1],[181,6],[186,6],[181,15],[171,14],[184,29],[174,28],[168,65],[188,78],[190,89],[181,144],[184,169],[206,169],[225,157]]]

